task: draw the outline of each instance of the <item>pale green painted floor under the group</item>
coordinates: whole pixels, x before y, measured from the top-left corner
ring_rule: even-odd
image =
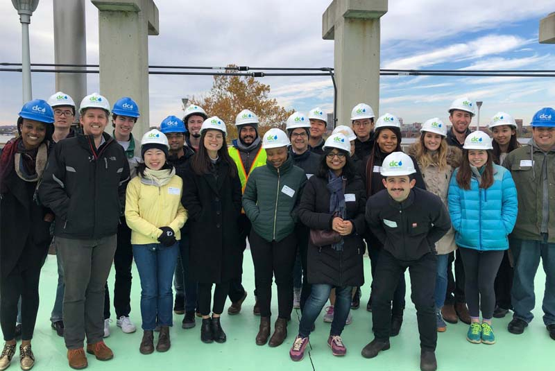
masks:
[[[365,258],[368,259],[368,258]],[[419,370],[420,348],[418,345],[418,329],[416,312],[407,292],[407,309],[404,323],[399,336],[391,339],[391,350],[382,352],[375,359],[364,359],[361,349],[372,340],[370,333],[372,314],[365,309],[370,287],[369,261],[365,261],[367,279],[362,290],[361,308],[352,311],[352,325],[345,327],[343,341],[348,348],[346,356],[332,356],[327,347],[327,335],[330,324],[321,318],[316,322],[316,331],[311,335],[311,350],[300,362],[289,359],[289,347],[298,330],[298,316],[293,313],[289,323],[289,336],[280,347],[271,348],[255,345],[255,336],[259,318],[253,316],[254,275],[250,252],[246,251],[244,264],[244,281],[248,288],[248,297],[244,309],[238,316],[222,317],[222,326],[228,334],[225,344],[204,344],[200,342],[200,320],[194,329],[181,329],[182,316],[174,316],[176,327],[171,330],[172,347],[166,353],[142,355],[139,343],[142,337],[140,330],[141,315],[139,309],[140,284],[139,275],[133,273],[133,294],[131,318],[137,325],[135,334],[123,334],[112,323],[112,334],[105,339],[114,351],[112,361],[96,361],[87,355],[89,370]],[[541,269],[541,268],[540,268]],[[113,288],[113,273],[110,275],[110,287]],[[407,280],[408,280],[407,275]],[[495,345],[473,345],[466,340],[467,325],[448,325],[447,332],[438,334],[438,370],[555,370],[552,358],[555,354],[555,342],[549,338],[542,322],[540,300],[543,297],[545,275],[538,273],[536,277],[536,293],[538,303],[534,311],[536,319],[524,334],[515,336],[506,331],[510,316],[494,319],[493,329],[497,336]],[[63,339],[56,335],[50,327],[49,317],[56,291],[57,273],[56,257],[49,255],[42,270],[40,284],[40,311],[33,338],[33,351],[36,364],[33,370],[69,370],[66,349]],[[276,297],[274,295],[274,297]],[[226,311],[227,313],[226,303]],[[363,308],[364,307],[364,308]],[[113,311],[112,311],[113,313]],[[273,302],[273,313],[277,313],[277,299]],[[307,348],[309,349],[309,348]],[[551,364],[551,366],[550,366]],[[19,354],[12,360],[10,370],[19,370]]]

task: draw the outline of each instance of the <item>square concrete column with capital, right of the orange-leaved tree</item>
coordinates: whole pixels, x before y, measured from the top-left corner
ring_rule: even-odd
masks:
[[[357,103],[379,112],[379,18],[387,0],[334,0],[322,16],[322,37],[335,40],[337,124],[350,123]]]

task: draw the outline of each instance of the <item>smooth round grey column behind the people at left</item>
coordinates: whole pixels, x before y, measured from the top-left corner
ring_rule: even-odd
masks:
[[[56,64],[87,64],[85,0],[54,0],[53,5],[54,61]],[[85,70],[80,67],[57,67],[56,69]],[[87,74],[56,74],[54,92],[60,91],[74,98],[78,111],[79,103],[87,95]]]

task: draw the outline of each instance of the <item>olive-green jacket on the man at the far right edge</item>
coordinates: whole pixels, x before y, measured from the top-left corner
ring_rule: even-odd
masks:
[[[544,163],[545,162],[545,163]],[[511,236],[540,241],[544,214],[549,214],[549,243],[555,242],[555,148],[544,153],[530,140],[513,150],[503,166],[511,171],[518,193],[518,216]],[[547,184],[544,171],[547,170]],[[544,194],[544,185],[547,194]]]

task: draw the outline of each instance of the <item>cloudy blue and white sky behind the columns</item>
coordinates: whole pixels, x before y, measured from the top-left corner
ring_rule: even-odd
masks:
[[[72,1],[72,0],[68,0]],[[150,64],[251,67],[333,67],[334,43],[322,40],[330,0],[157,0],[160,35],[149,40]],[[87,63],[99,62],[98,10],[85,0]],[[382,17],[382,68],[555,69],[555,45],[538,43],[539,20],[555,11],[549,0],[390,0]],[[484,4],[487,3],[487,6]],[[31,18],[31,62],[53,63],[53,4],[40,0]],[[21,62],[21,26],[11,1],[0,2],[0,62]],[[364,74],[365,71],[360,71]],[[22,106],[21,74],[0,72],[0,125]],[[182,115],[180,98],[207,92],[212,78],[150,76],[151,125]],[[553,78],[382,76],[380,112],[404,123],[447,120],[453,98],[484,101],[481,123],[497,111],[530,121],[555,105]],[[271,96],[287,109],[319,105],[331,111],[330,78],[266,77]],[[99,76],[87,75],[87,90]],[[33,74],[33,98],[55,92],[53,74]]]

